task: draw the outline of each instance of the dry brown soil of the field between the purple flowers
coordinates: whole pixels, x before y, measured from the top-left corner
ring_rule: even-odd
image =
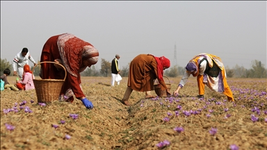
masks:
[[[180,79],[170,78],[171,92]],[[224,94],[208,88],[204,99],[195,98],[198,94],[195,80],[189,78],[179,97],[145,99],[144,92],[133,91],[129,99],[133,106],[128,107],[120,103],[127,78],[111,87],[109,77],[83,77],[84,93],[95,106],[92,110],[86,110],[79,100],[55,101],[42,107],[38,105],[35,90],[4,90],[1,92],[1,149],[159,149],[156,144],[163,140],[170,142],[164,149],[229,149],[231,144],[239,149],[267,149],[266,79],[228,78],[235,103],[225,101]],[[10,76],[8,81],[15,83],[15,78]],[[19,109],[22,101],[26,101],[25,106],[33,113]],[[3,113],[3,109],[13,108],[15,103],[19,112]],[[252,112],[255,106],[260,115]],[[224,108],[229,110],[225,113]],[[183,113],[183,110],[199,109],[202,110],[197,115],[186,117]],[[175,111],[179,111],[178,117]],[[79,117],[72,119],[70,114]],[[227,114],[231,117],[225,119]],[[252,114],[259,117],[257,122],[252,122]],[[164,117],[170,121],[163,122]],[[60,124],[60,120],[65,120],[65,124]],[[15,126],[14,131],[8,131],[6,123]],[[59,127],[53,128],[52,124]],[[173,130],[176,126],[184,131],[177,133]],[[209,133],[211,128],[218,129],[216,135]],[[70,140],[65,139],[66,134],[71,136]]]

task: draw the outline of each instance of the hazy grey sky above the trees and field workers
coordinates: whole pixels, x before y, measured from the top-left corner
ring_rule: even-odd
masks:
[[[266,1],[1,1],[1,58],[27,47],[37,62],[53,35],[72,33],[120,67],[140,53],[185,67],[198,53],[225,67],[266,67]],[[177,54],[175,56],[175,45]],[[33,63],[30,62],[32,66]]]

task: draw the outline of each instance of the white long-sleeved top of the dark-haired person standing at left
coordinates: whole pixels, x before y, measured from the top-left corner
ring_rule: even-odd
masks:
[[[22,56],[22,52],[17,53],[13,60],[13,69],[17,72],[17,67],[24,67],[24,65],[29,65],[29,60],[31,62],[35,63],[35,60],[31,57],[29,51],[26,54],[26,56]]]

